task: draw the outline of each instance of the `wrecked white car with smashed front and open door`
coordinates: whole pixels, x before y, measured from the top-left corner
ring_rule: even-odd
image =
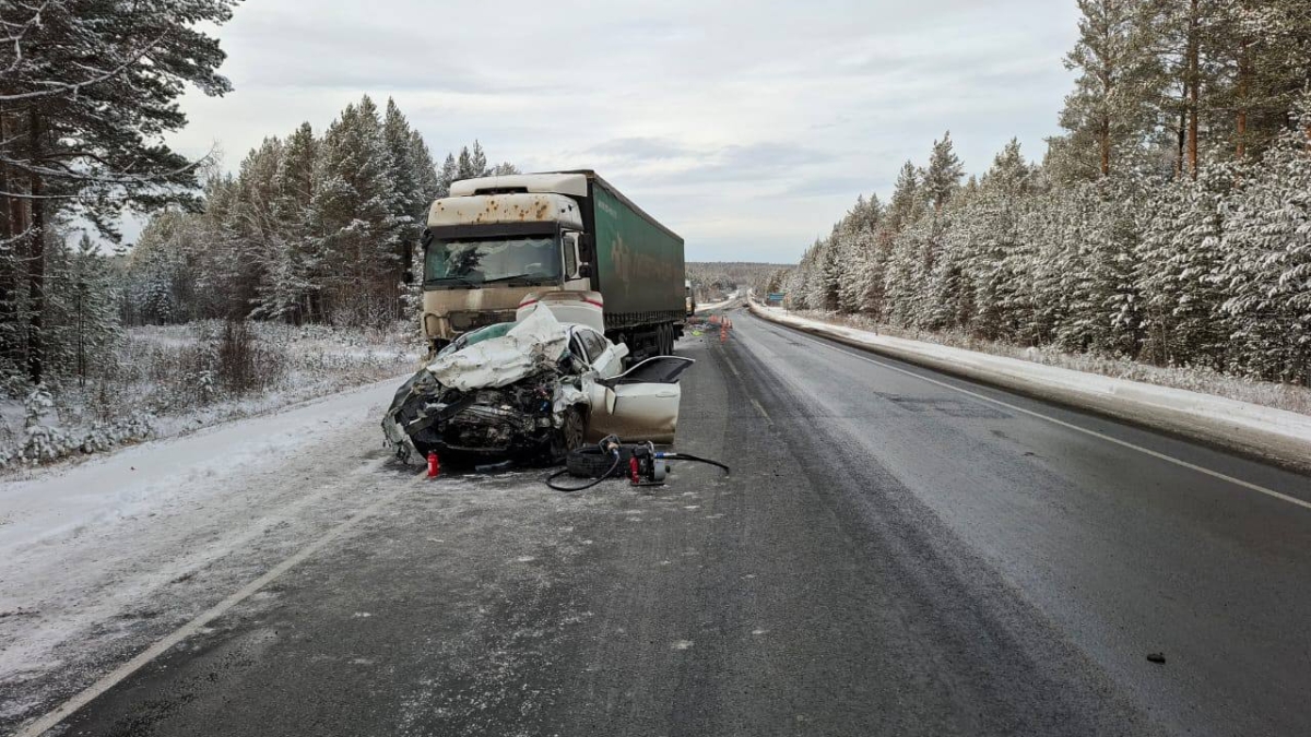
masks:
[[[662,355],[625,371],[628,348],[606,338],[600,309],[568,299],[526,298],[515,323],[460,336],[405,382],[383,418],[397,458],[548,464],[611,434],[671,443],[678,379],[695,362]]]

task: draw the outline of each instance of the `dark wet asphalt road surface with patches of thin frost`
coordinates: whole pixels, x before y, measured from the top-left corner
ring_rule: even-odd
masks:
[[[56,729],[1311,734],[1311,511],[1045,417],[1306,477],[733,319],[680,344],[679,428],[732,476],[384,466],[368,515]]]

